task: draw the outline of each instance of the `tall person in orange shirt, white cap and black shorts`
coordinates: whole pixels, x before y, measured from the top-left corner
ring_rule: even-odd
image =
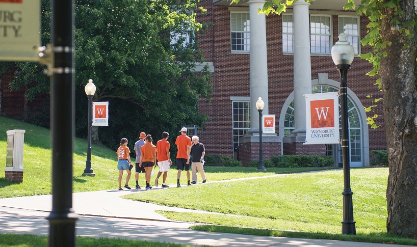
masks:
[[[177,136],[175,140],[175,145],[178,147],[176,163],[177,163],[177,187],[181,187],[179,183],[179,178],[181,177],[181,172],[186,170],[187,171],[187,185],[191,185],[190,183],[190,151],[191,151],[191,138],[187,136],[187,128],[183,127],[181,129],[181,135]]]

